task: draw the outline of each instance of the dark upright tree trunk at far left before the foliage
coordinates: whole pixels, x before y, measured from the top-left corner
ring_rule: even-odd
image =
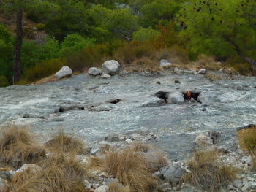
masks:
[[[22,8],[19,7],[17,16],[16,16],[14,83],[20,80],[20,51],[21,51],[22,37],[23,37],[22,18],[23,18]]]

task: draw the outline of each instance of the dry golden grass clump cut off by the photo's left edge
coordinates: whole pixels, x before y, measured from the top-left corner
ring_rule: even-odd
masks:
[[[18,168],[45,157],[45,150],[37,146],[34,136],[23,126],[7,126],[0,133],[0,164]]]

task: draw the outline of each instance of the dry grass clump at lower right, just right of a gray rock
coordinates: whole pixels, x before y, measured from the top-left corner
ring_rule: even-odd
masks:
[[[225,166],[217,158],[217,152],[200,151],[187,162],[190,172],[184,175],[183,182],[208,191],[219,191],[222,187],[236,179],[237,170]]]

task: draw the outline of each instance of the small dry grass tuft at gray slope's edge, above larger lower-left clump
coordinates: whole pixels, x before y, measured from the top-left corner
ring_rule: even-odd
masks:
[[[83,153],[84,151],[82,141],[67,135],[63,131],[59,131],[45,145],[48,147],[48,150],[56,153]]]

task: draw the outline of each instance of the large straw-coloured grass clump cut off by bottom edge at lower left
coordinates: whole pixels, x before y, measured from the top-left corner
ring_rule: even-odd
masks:
[[[89,177],[75,158],[56,155],[40,164],[42,170],[26,169],[12,178],[11,192],[86,192],[83,180]]]

